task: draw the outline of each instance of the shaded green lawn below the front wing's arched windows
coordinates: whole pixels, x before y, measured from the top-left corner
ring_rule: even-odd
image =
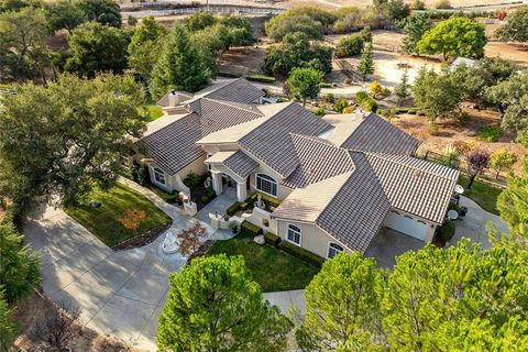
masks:
[[[228,241],[217,241],[207,255],[226,253],[242,255],[264,292],[305,288],[319,272],[312,264],[305,263],[267,244],[258,245],[243,234]]]

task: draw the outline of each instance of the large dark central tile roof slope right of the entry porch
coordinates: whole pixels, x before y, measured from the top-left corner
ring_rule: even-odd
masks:
[[[299,163],[290,133],[319,135],[329,129],[331,125],[321,118],[292,102],[243,136],[239,144],[286,177]]]

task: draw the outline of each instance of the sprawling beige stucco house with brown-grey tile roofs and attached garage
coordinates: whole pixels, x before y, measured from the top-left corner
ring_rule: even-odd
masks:
[[[190,172],[210,172],[217,195],[232,184],[239,201],[277,198],[273,212],[255,208],[249,220],[322,257],[364,253],[384,228],[431,241],[457,170],[415,157],[420,142],[375,113],[320,118],[262,98],[245,79],[163,97],[170,114],[139,142],[153,184],[188,193]]]

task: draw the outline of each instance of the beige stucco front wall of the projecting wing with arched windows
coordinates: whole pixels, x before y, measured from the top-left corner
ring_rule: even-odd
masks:
[[[287,241],[289,223],[301,230],[300,246],[305,250],[316,253],[319,256],[327,257],[328,245],[330,242],[334,242],[342,245],[346,252],[350,252],[342,243],[330,237],[315,224],[277,219],[277,234],[283,239],[283,241]]]

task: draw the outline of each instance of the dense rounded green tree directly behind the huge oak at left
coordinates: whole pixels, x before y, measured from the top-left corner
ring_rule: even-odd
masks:
[[[88,22],[68,36],[66,70],[95,77],[98,73],[120,74],[127,67],[129,38],[117,28]]]

